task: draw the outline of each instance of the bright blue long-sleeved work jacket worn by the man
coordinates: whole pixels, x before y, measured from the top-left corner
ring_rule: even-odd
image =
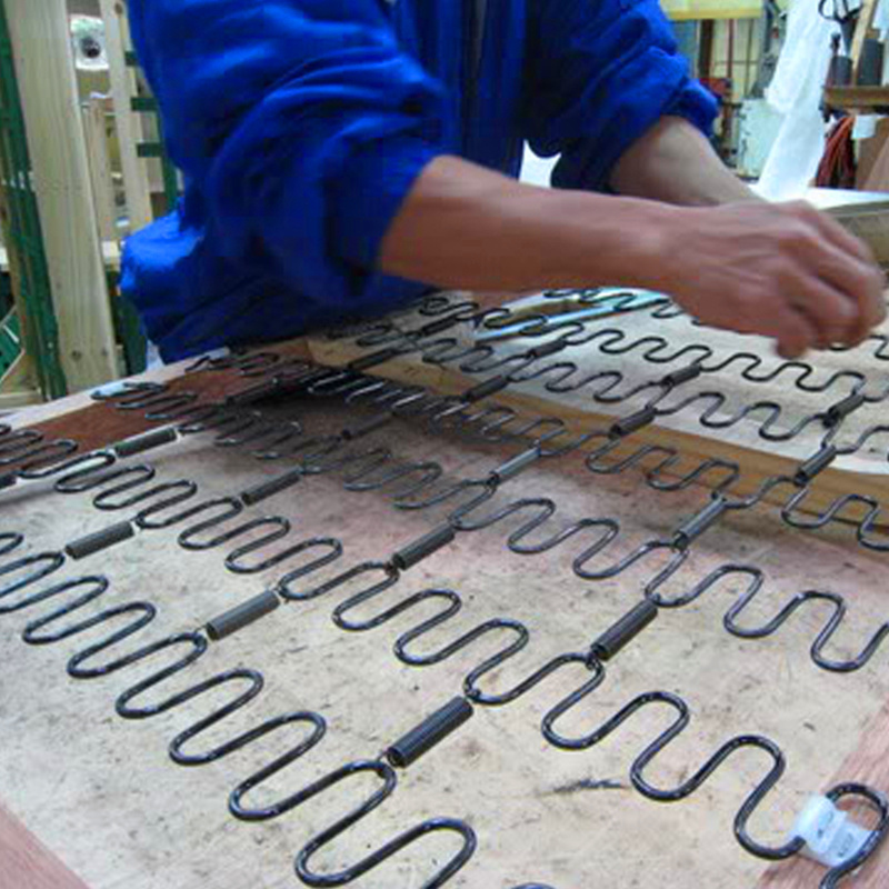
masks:
[[[422,168],[601,189],[663,114],[707,130],[658,0],[130,0],[184,197],[127,241],[122,289],[167,360],[382,313],[422,284],[380,242]]]

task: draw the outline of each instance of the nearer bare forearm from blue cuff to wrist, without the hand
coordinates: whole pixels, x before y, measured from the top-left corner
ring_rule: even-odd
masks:
[[[382,270],[439,287],[657,287],[675,208],[516,182],[457,158],[421,174],[384,241]]]

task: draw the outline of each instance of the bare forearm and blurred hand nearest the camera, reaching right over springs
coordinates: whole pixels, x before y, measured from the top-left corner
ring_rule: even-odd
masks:
[[[883,318],[867,248],[806,204],[686,208],[533,188],[440,157],[383,239],[382,270],[441,287],[637,286],[785,356],[852,342]]]

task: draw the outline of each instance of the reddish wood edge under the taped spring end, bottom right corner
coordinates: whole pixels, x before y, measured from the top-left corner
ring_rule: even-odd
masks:
[[[861,738],[861,745],[843,761],[831,783],[861,781],[871,787],[889,788],[889,702],[873,718]],[[861,823],[867,823],[865,818]],[[773,865],[757,889],[811,889],[823,877],[825,868],[813,861],[796,858]],[[889,885],[889,855],[883,850],[850,879],[855,889],[886,889]]]

